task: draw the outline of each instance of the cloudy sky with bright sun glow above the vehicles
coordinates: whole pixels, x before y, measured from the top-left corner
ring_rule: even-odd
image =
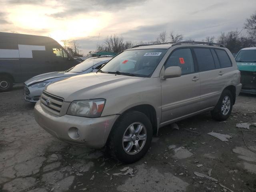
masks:
[[[198,41],[217,38],[242,30],[256,12],[256,0],[0,0],[0,5],[0,32],[77,40],[83,54],[111,34],[135,43],[156,40],[163,31]]]

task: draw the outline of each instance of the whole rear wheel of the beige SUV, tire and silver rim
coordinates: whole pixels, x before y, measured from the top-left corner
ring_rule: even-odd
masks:
[[[233,96],[229,90],[224,90],[220,96],[218,104],[211,111],[212,118],[218,121],[228,119],[233,107]]]

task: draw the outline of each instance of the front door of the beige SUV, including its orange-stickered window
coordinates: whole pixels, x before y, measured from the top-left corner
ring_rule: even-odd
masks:
[[[162,123],[200,109],[200,76],[194,65],[191,49],[174,50],[164,64],[164,68],[170,66],[179,66],[182,75],[161,80]]]

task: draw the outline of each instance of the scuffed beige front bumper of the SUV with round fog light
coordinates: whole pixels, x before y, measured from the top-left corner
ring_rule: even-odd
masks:
[[[100,118],[85,118],[71,115],[57,116],[44,110],[40,101],[34,108],[36,122],[52,136],[70,144],[102,148],[108,139],[111,128],[118,115]],[[79,138],[72,138],[77,128]],[[77,136],[77,135],[76,135]]]

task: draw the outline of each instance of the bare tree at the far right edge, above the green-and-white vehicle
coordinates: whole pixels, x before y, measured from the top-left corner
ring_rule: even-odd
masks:
[[[256,13],[246,19],[244,28],[247,30],[249,38],[252,41],[252,46],[256,46]]]

